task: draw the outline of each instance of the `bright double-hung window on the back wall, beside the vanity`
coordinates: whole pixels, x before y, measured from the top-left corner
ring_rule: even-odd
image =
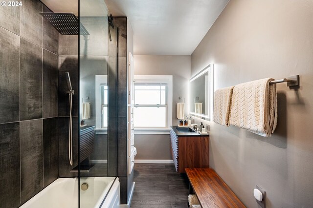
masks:
[[[172,125],[172,76],[135,75],[135,129],[168,129]]]

